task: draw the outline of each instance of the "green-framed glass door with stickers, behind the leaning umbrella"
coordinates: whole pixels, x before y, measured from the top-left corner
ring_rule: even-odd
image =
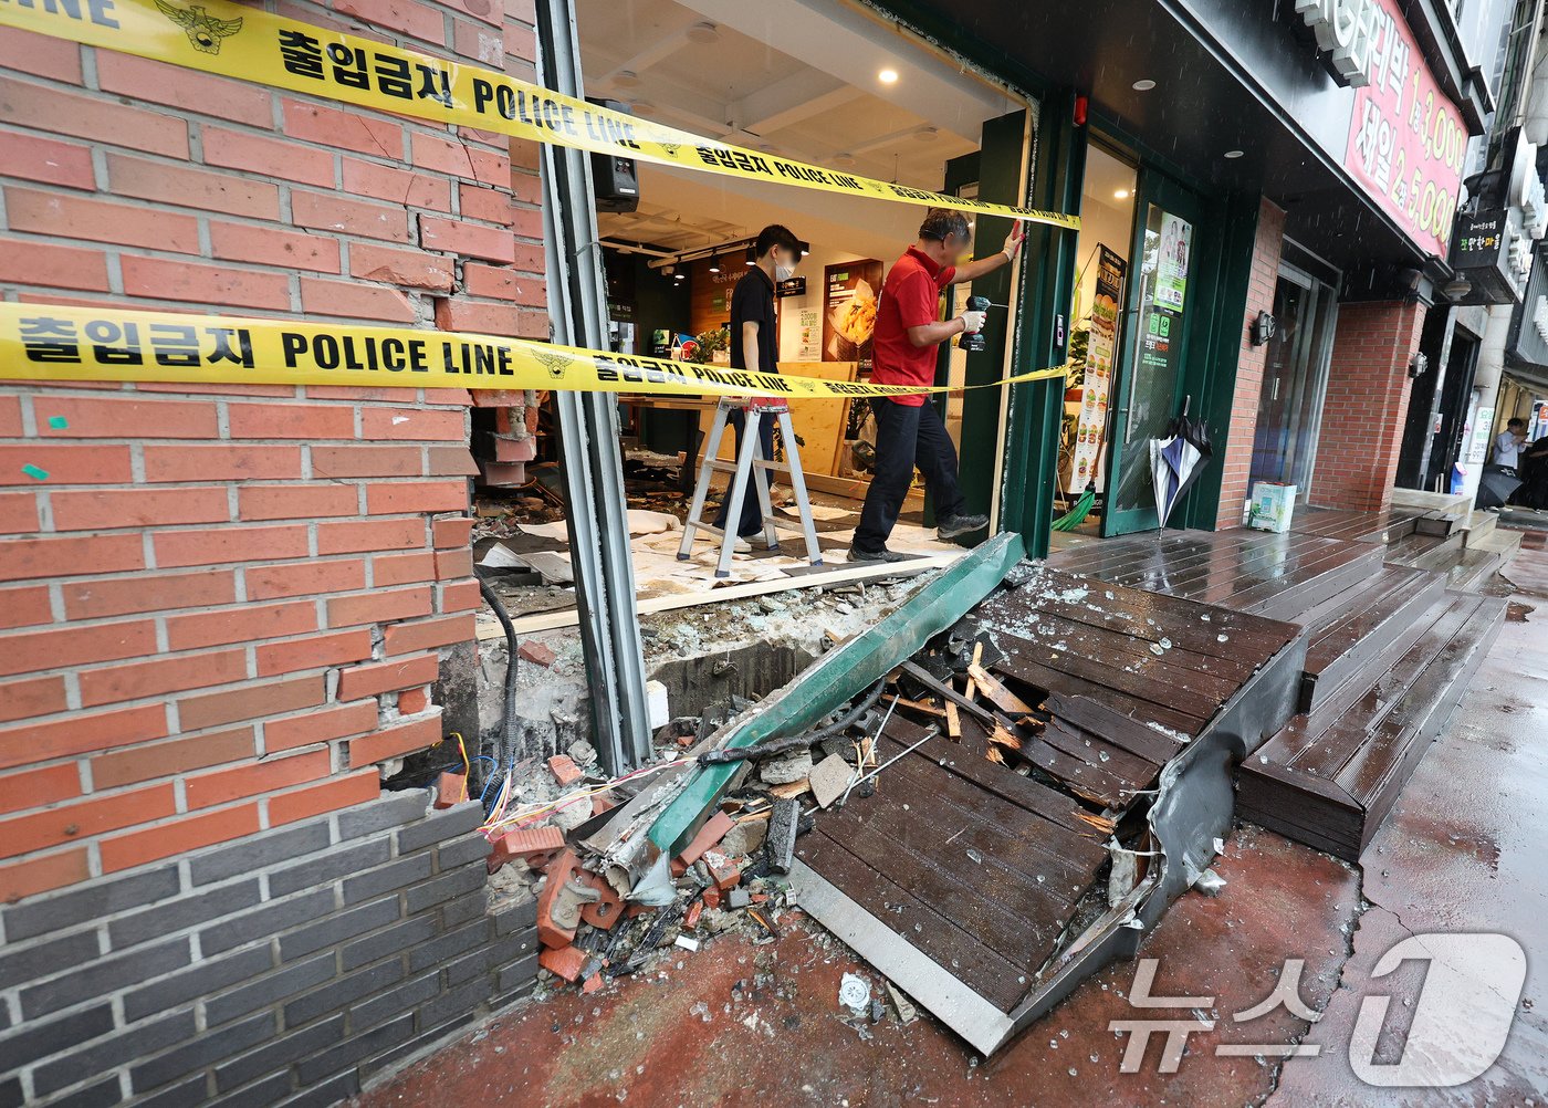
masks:
[[[1146,172],[1139,210],[1130,252],[1139,260],[1139,272],[1130,282],[1122,327],[1127,371],[1118,382],[1104,535],[1159,526],[1150,439],[1163,436],[1183,410],[1183,361],[1198,313],[1194,246],[1203,204],[1195,193]]]

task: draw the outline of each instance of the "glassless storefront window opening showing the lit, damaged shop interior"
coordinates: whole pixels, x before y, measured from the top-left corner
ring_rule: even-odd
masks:
[[[895,23],[878,23],[858,3],[819,8],[802,0],[573,0],[585,93],[622,110],[692,135],[720,139],[836,172],[902,186],[1025,203],[1034,105],[988,80]],[[791,279],[776,289],[782,371],[834,381],[872,373],[876,308],[889,269],[916,237],[924,209],[912,203],[796,189],[768,181],[638,162],[628,189],[615,189],[613,167],[593,162],[598,232],[607,274],[608,337],[619,353],[707,364],[731,361],[731,303],[738,282],[752,279],[752,243],[769,224],[788,227],[803,245]],[[1012,226],[974,220],[974,252],[994,254]],[[1014,350],[1019,289],[1009,268],[991,297],[995,317],[986,353],[943,351],[943,381],[964,373],[998,379]],[[968,286],[955,286],[966,294]],[[974,292],[988,292],[977,288]],[[958,308],[955,299],[943,313]],[[1003,409],[981,398],[941,401],[947,427],[985,495],[1003,430]],[[681,522],[694,500],[700,463],[717,418],[717,399],[619,395],[624,483],[635,534],[636,594],[641,600],[709,593],[718,579],[704,557],[718,554],[711,535],[678,557]],[[542,405],[540,405],[542,407]],[[805,486],[816,504],[820,546],[844,566],[875,467],[875,419],[865,398],[796,399],[789,404]],[[545,585],[562,585],[568,537],[559,487],[560,444],[546,416],[533,421],[536,447],[528,484],[486,491],[506,534],[502,543],[522,565],[540,565]],[[506,443],[498,444],[502,449]],[[785,449],[783,443],[777,449]],[[732,461],[734,435],[718,446]],[[728,467],[729,469],[729,467]],[[714,472],[704,522],[714,523],[728,472]],[[789,475],[774,477],[777,522],[797,518]],[[938,540],[923,484],[902,506],[889,546],[913,554],[957,556]],[[975,504],[974,512],[986,511]],[[760,514],[762,515],[762,514]],[[664,517],[676,517],[666,520]],[[746,520],[746,514],[743,514]],[[647,528],[655,528],[655,532]],[[746,537],[754,534],[740,528]],[[698,540],[695,540],[698,542]],[[741,543],[734,583],[810,580],[814,569],[799,542],[769,549]],[[751,546],[751,549],[741,549]],[[712,559],[711,559],[712,562]],[[824,569],[827,573],[827,569]],[[563,599],[563,597],[560,597]]]

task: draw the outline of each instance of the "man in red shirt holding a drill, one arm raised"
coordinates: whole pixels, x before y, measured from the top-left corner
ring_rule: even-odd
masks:
[[[898,258],[881,288],[872,339],[872,381],[933,385],[935,348],[955,334],[971,334],[983,327],[981,311],[964,311],[940,322],[941,289],[1014,262],[1022,249],[1022,224],[1015,224],[998,254],[958,266],[957,258],[968,245],[966,215],[949,207],[932,207],[924,214],[920,241]],[[850,562],[901,562],[907,557],[887,549],[887,537],[898,523],[915,467],[924,474],[924,484],[935,497],[941,539],[989,526],[986,515],[963,514],[966,504],[957,486],[957,449],[935,405],[926,404],[923,393],[876,396],[872,415],[876,416],[876,469],[865,494],[861,525],[854,529]]]

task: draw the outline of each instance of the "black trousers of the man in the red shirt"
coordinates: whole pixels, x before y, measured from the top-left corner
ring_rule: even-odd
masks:
[[[876,418],[876,472],[861,509],[861,525],[854,529],[854,549],[865,554],[885,548],[915,469],[924,475],[924,487],[935,497],[937,518],[963,514],[957,447],[935,405],[926,401],[910,407],[878,396],[872,401],[872,415]]]

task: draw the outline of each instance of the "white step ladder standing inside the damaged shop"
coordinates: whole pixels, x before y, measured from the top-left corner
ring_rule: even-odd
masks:
[[[720,441],[726,433],[728,416],[743,409],[746,424],[741,429],[741,450],[737,452],[735,463],[720,460]],[[762,441],[759,432],[765,419],[774,419],[779,441],[785,446],[785,461],[774,461],[762,457]],[[788,474],[791,492],[796,494],[796,508],[800,512],[800,526],[776,518],[769,503],[769,472]],[[726,522],[731,523],[731,534],[721,528],[703,522],[704,500],[709,497],[711,474],[731,474],[731,487],[726,491]],[[807,559],[811,565],[822,565],[822,548],[817,546],[817,528],[811,522],[811,500],[807,497],[807,480],[800,472],[800,450],[796,447],[796,429],[789,422],[789,404],[785,401],[720,398],[715,405],[715,422],[709,429],[704,441],[704,461],[698,467],[698,484],[694,487],[694,504],[687,512],[687,523],[683,525],[683,543],[678,546],[678,560],[687,562],[694,549],[694,535],[700,531],[715,535],[720,540],[720,562],[715,565],[717,577],[731,576],[731,556],[735,552],[735,526],[741,518],[741,501],[748,495],[748,477],[759,492],[759,506],[763,509],[763,542],[768,549],[779,549],[779,532],[799,532],[807,539]]]

